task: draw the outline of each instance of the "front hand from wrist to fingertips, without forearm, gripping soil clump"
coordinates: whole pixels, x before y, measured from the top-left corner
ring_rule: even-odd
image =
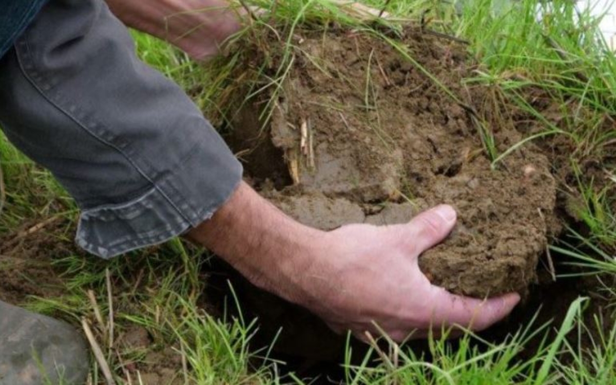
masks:
[[[408,224],[346,225],[326,233],[304,273],[301,286],[310,294],[302,304],[334,330],[351,330],[360,339],[365,331],[402,341],[424,338],[431,328],[436,334],[450,326],[487,328],[511,312],[518,294],[456,296],[419,270],[419,254],[447,237],[455,222],[453,208],[442,205]]]

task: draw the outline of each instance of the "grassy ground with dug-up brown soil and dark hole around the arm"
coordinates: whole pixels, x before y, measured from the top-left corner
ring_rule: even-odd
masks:
[[[16,166],[23,158],[10,152],[0,154],[9,193],[0,221],[0,300],[78,328],[85,320],[117,383],[299,383],[281,381],[280,371],[320,376],[315,383],[614,383],[616,328],[605,305],[614,298],[607,273],[616,271],[616,179],[610,172],[616,166],[616,111],[610,109],[613,90],[605,86],[611,79],[607,67],[589,46],[580,46],[589,34],[577,36],[567,17],[549,30],[557,18],[540,25],[524,12],[501,25],[477,7],[464,20],[475,24],[461,35],[471,46],[428,28],[407,30],[394,39],[394,48],[335,22],[326,23],[325,31],[318,22],[319,31],[301,27],[286,36],[299,2],[274,3],[281,38],[264,32],[270,26],[248,30],[240,44],[245,51],[230,50],[213,67],[186,62],[142,35],[140,53],[180,81],[226,133],[245,161],[248,180],[299,221],[322,229],[350,222],[386,225],[438,203],[455,206],[458,227],[421,257],[421,268],[456,293],[527,294],[511,317],[479,342],[466,336],[453,344],[425,342],[421,349],[385,344],[389,352],[373,346],[376,353],[364,356],[367,346],[347,346],[344,336],[314,316],[259,293],[221,261],[206,262],[203,251],[179,240],[111,262],[87,256],[73,243],[76,209],[70,199],[50,189],[51,177],[40,169],[27,162]],[[402,9],[410,1],[387,3],[405,16],[415,12]],[[537,4],[522,3],[534,15]],[[315,7],[322,17],[323,8]],[[424,4],[416,11],[423,25],[429,11]],[[381,26],[376,31],[394,36]],[[575,60],[562,59],[567,49]],[[217,72],[234,60],[239,64],[233,71]],[[250,91],[265,92],[248,104],[229,103],[230,93],[235,99],[248,94],[238,90],[256,69],[259,78]],[[209,84],[232,86],[211,91]],[[527,104],[512,104],[520,99]],[[272,119],[262,129],[259,113],[268,104]],[[234,113],[216,119],[225,108]],[[517,146],[546,128],[561,135]],[[4,146],[0,141],[0,150]],[[546,253],[548,242],[559,241],[563,224],[581,238],[564,238],[557,243],[564,249]],[[572,253],[588,255],[590,269],[604,262],[602,282],[556,279],[555,273],[586,271],[566,265],[578,261]],[[585,316],[576,307],[580,294],[592,298]],[[245,318],[233,312],[237,307]],[[568,317],[572,309],[577,318]],[[555,331],[538,331],[549,320]],[[558,336],[571,331],[573,320],[579,321],[577,333],[563,344]],[[515,334],[520,328],[527,334]],[[563,353],[555,358],[550,351]],[[342,362],[359,366],[343,370]],[[109,383],[94,359],[90,383]]]

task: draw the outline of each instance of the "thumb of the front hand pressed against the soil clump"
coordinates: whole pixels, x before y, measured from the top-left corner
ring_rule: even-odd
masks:
[[[412,234],[408,241],[421,253],[444,240],[455,224],[456,211],[452,206],[436,206],[408,222]]]

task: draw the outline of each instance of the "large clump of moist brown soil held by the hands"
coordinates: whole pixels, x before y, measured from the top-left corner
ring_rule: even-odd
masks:
[[[274,98],[267,129],[245,109],[242,129],[230,134],[235,150],[253,154],[245,157],[248,174],[256,182],[270,177],[256,183],[263,195],[324,230],[403,223],[431,206],[453,205],[458,225],[421,256],[423,272],[453,293],[525,293],[556,231],[556,183],[533,145],[492,169],[480,124],[493,132],[499,153],[523,138],[492,90],[463,84],[473,69],[464,47],[419,30],[401,41],[455,100],[383,39],[340,30],[294,36],[282,91],[251,106]],[[269,47],[281,44],[274,39]],[[272,75],[280,65],[273,55]]]

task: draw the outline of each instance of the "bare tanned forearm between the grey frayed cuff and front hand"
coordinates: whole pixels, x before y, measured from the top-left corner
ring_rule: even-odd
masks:
[[[302,302],[297,296],[306,293],[299,280],[323,254],[319,245],[324,234],[287,217],[242,182],[188,238],[221,256],[255,285],[285,297],[294,293],[296,298],[286,299]]]

